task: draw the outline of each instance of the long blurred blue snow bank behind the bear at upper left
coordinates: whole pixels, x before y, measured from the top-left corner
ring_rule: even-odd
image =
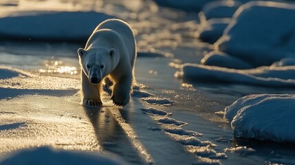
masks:
[[[0,17],[0,40],[84,42],[113,16],[99,12],[10,12]]]

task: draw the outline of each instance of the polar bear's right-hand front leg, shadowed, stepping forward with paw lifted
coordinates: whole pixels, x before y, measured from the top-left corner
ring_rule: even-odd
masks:
[[[128,104],[130,100],[132,81],[132,74],[127,74],[120,77],[118,82],[113,85],[113,91],[111,94],[111,100],[113,100],[113,104],[118,106],[125,106]]]

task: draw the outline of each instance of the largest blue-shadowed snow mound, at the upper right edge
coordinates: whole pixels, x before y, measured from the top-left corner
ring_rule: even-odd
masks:
[[[255,67],[295,57],[295,5],[252,1],[241,5],[215,50]]]

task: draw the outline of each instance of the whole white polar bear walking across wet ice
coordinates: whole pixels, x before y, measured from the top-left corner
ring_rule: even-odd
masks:
[[[128,23],[107,19],[89,37],[85,48],[78,49],[81,66],[82,101],[87,107],[102,106],[102,80],[113,83],[113,104],[125,106],[132,92],[136,42]]]

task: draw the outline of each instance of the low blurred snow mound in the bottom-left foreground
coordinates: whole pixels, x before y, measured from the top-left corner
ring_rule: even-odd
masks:
[[[64,151],[56,150],[49,147],[39,147],[31,149],[23,149],[17,153],[10,155],[0,162],[1,165],[65,165],[65,164],[127,164],[116,155],[105,155],[98,153],[87,153],[82,151]]]

